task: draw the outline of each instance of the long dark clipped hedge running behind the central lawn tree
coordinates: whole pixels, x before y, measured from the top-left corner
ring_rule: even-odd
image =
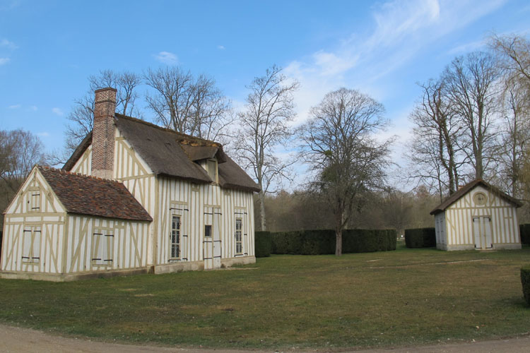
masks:
[[[268,234],[266,234],[268,233]],[[331,229],[294,232],[256,232],[256,257],[265,255],[270,239],[270,253],[323,255],[335,253],[336,235]],[[345,229],[342,233],[343,253],[367,253],[396,250],[395,229]]]

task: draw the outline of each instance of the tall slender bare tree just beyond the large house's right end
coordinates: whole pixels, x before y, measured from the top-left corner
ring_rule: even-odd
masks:
[[[300,84],[281,73],[276,65],[267,68],[265,75],[254,78],[245,110],[240,114],[239,139],[235,149],[238,160],[252,170],[259,186],[259,215],[261,230],[266,230],[264,196],[273,192],[276,181],[288,178],[288,167],[293,162],[281,160],[274,148],[292,136],[288,125],[295,117],[293,93]]]

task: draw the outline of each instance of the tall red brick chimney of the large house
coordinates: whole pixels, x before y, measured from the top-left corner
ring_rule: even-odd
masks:
[[[92,175],[112,179],[114,167],[114,88],[95,90],[94,127],[92,131]]]

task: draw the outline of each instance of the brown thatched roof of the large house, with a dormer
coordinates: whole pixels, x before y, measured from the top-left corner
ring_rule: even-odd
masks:
[[[259,187],[247,173],[225,154],[220,143],[177,133],[122,114],[114,114],[114,124],[156,175],[195,183],[211,183],[208,173],[196,161],[215,157],[221,187],[259,191]],[[73,167],[91,140],[92,136],[89,134],[63,169],[70,170]]]

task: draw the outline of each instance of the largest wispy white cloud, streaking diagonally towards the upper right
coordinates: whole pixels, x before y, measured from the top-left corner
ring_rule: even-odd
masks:
[[[338,38],[331,47],[307,54],[285,66],[285,74],[301,83],[295,95],[297,124],[326,92],[355,88],[384,101],[394,92],[384,80],[436,45],[440,37],[495,11],[505,0],[391,0],[372,7],[372,28]],[[333,47],[334,45],[334,47]]]

